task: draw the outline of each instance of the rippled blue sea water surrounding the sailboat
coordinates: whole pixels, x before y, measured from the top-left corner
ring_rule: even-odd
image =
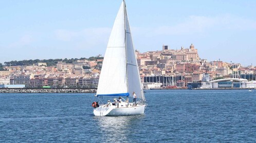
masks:
[[[0,142],[255,142],[256,90],[147,90],[144,115],[96,117],[92,93],[0,93]]]

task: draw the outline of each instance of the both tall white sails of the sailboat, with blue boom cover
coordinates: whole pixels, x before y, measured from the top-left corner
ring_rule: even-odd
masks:
[[[108,40],[97,96],[132,96],[135,92],[145,101],[125,7],[122,2]]]

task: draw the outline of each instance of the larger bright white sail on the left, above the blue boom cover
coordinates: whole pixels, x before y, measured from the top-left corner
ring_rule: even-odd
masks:
[[[97,95],[127,93],[124,3],[122,2],[108,40]]]

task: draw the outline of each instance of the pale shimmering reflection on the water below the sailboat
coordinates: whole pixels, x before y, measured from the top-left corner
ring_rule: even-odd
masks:
[[[113,142],[128,141],[129,134],[135,133],[134,127],[142,124],[145,115],[134,116],[95,116],[101,135]]]

